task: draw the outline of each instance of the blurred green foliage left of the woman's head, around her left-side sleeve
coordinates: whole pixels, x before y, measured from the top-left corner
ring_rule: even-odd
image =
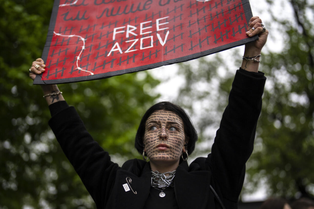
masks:
[[[0,0],[0,208],[95,208],[48,127],[50,113],[28,69],[41,56],[52,0]],[[139,157],[137,126],[158,95],[147,72],[59,85],[114,159]],[[28,207],[27,207],[28,206]]]

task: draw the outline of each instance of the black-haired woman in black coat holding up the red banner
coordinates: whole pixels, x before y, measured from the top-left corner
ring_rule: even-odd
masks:
[[[162,102],[147,110],[135,147],[149,162],[133,159],[119,167],[92,139],[57,85],[42,86],[52,116],[49,125],[97,208],[237,208],[266,80],[258,65],[268,31],[252,17],[246,34],[259,39],[246,44],[212,153],[190,165],[186,160],[197,134],[180,107]],[[42,59],[34,61],[30,78],[44,68]]]

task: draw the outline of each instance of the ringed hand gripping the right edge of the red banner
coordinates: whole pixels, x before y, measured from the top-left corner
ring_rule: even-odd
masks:
[[[268,30],[264,30],[264,25],[262,24],[262,20],[258,17],[252,17],[249,21],[249,27],[248,31],[246,32],[246,35],[249,37],[253,37],[254,35],[258,35],[259,39],[256,41],[253,41],[251,43],[247,43],[245,45],[246,50],[252,50],[252,51],[261,51],[263,46],[266,43],[267,36],[268,36]]]

